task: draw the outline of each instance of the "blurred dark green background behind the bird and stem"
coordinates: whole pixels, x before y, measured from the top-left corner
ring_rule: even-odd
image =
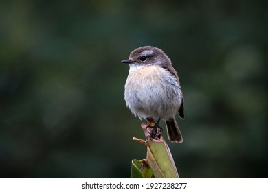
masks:
[[[181,178],[267,177],[267,2],[1,1],[1,178],[129,178],[146,148],[120,61],[144,45],[179,72]]]

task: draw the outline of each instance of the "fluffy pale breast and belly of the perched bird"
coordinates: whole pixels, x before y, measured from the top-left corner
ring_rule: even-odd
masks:
[[[140,119],[168,119],[181,105],[181,88],[167,69],[150,66],[131,71],[126,80],[124,99]]]

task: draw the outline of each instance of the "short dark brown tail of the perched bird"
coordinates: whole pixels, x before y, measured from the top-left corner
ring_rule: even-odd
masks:
[[[171,142],[182,143],[182,135],[179,130],[179,126],[177,125],[175,117],[170,117],[170,119],[166,120],[166,129],[168,130],[168,139]]]

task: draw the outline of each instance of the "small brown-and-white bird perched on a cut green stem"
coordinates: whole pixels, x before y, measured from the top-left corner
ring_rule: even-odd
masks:
[[[126,106],[135,117],[157,123],[153,130],[160,128],[158,123],[166,123],[168,139],[171,142],[183,141],[175,115],[184,119],[183,93],[177,71],[172,67],[170,58],[157,47],[144,46],[131,52],[128,60],[129,75],[124,86]],[[150,126],[148,126],[150,127]]]

